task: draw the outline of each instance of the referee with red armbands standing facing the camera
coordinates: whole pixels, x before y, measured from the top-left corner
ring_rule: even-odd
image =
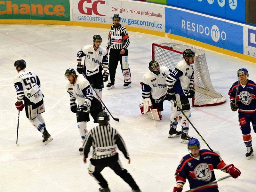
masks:
[[[130,38],[127,30],[120,24],[120,16],[115,14],[112,18],[113,25],[110,27],[108,33],[107,52],[109,52],[109,78],[107,89],[113,89],[115,87],[115,76],[118,61],[120,61],[121,69],[124,76],[124,89],[131,87],[131,71],[128,64],[128,46],[130,44]]]

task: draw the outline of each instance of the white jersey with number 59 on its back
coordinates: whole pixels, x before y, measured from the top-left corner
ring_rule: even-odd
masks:
[[[40,80],[33,71],[21,70],[14,78],[17,100],[25,105],[36,104],[44,97],[40,90]]]

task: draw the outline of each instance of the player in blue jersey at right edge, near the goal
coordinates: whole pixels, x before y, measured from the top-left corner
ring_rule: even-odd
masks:
[[[245,156],[248,159],[253,157],[251,126],[256,133],[256,84],[249,80],[249,73],[246,68],[237,71],[239,81],[231,86],[228,95],[232,111],[238,109],[240,129],[243,134],[244,144],[247,148]]]

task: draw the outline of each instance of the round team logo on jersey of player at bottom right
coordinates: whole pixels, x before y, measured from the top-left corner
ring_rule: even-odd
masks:
[[[208,164],[201,163],[196,166],[194,173],[198,180],[210,181],[212,179],[212,172],[208,167]]]

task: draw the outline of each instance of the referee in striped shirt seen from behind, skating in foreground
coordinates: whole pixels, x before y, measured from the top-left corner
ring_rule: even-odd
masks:
[[[133,180],[130,173],[123,168],[116,152],[116,145],[122,151],[125,158],[130,164],[131,159],[127,152],[125,143],[117,130],[108,125],[109,116],[106,112],[100,112],[98,115],[99,126],[94,127],[86,136],[84,141],[84,163],[87,162],[88,153],[92,146],[91,164],[88,167],[89,174],[98,180],[101,192],[110,192],[108,182],[102,177],[100,172],[105,167],[110,167],[117,175],[119,175],[126,183],[128,183],[133,192],[140,192],[138,185]]]

